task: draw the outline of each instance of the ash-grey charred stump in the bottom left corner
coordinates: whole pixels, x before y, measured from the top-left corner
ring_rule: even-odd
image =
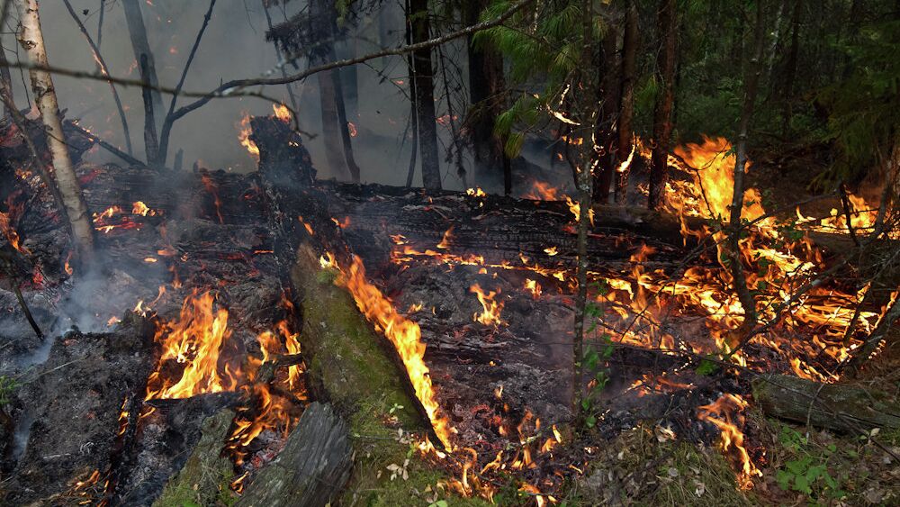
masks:
[[[110,333],[58,340],[15,395],[17,433],[28,443],[4,502],[75,504],[103,493],[153,355],[153,326],[134,314]]]

